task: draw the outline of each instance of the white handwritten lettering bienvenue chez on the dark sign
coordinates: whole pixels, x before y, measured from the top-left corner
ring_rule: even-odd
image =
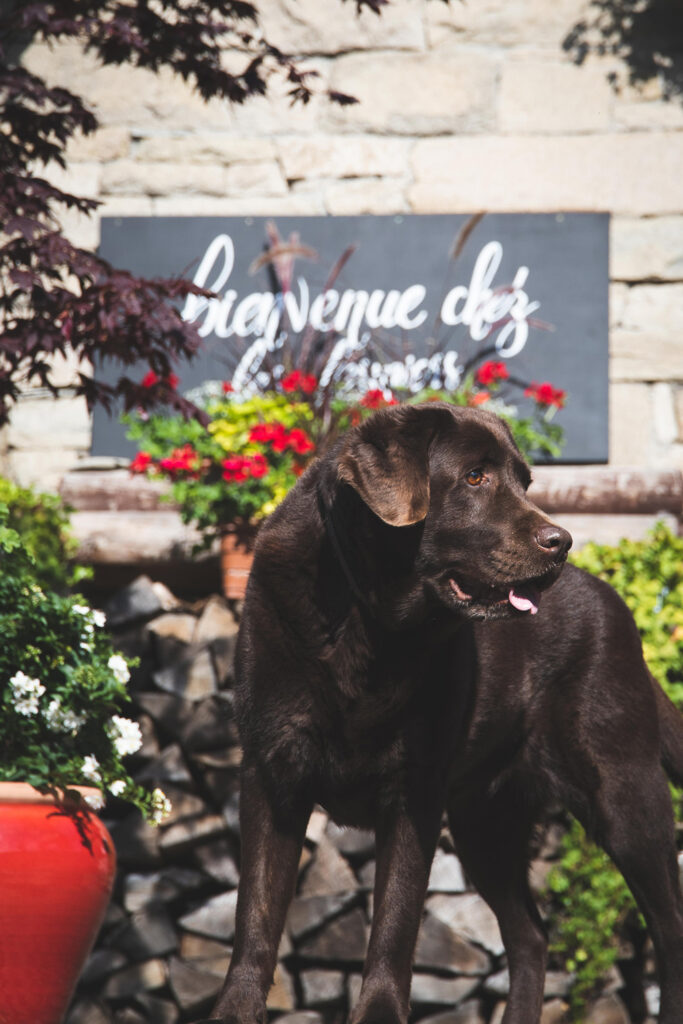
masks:
[[[488,242],[479,252],[469,285],[457,285],[443,298],[439,318],[446,327],[464,325],[473,341],[492,339],[498,352],[507,358],[518,355],[528,338],[528,318],[540,307],[529,300],[524,287],[528,267],[520,266],[507,287],[495,287],[496,274],[503,260],[500,242]],[[413,284],[402,290],[328,288],[311,298],[308,283],[299,276],[298,294],[287,292],[250,292],[240,296],[236,289],[226,287],[234,268],[234,245],[229,234],[218,234],[208,246],[194,278],[196,285],[214,292],[216,297],[188,295],[182,310],[185,321],[199,323],[202,337],[217,338],[238,336],[253,339],[244,353],[233,379],[246,378],[255,373],[266,352],[274,351],[282,343],[282,321],[286,313],[294,334],[307,325],[321,332],[334,331],[340,336],[323,376],[328,379],[345,353],[364,348],[370,339],[369,332],[415,331],[427,319],[422,308],[427,289]],[[449,356],[452,356],[449,359]],[[440,356],[442,369],[457,383],[457,353]],[[405,383],[417,376],[416,360],[409,356],[403,362],[366,367],[366,377]],[[359,369],[362,369],[360,366]],[[378,376],[379,375],[379,376]]]

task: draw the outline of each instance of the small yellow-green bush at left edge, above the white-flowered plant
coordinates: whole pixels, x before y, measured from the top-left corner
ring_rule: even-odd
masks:
[[[69,513],[56,495],[38,494],[0,477],[0,504],[7,507],[7,526],[16,530],[33,557],[43,587],[66,590],[83,579],[74,566],[76,541],[69,529]]]

